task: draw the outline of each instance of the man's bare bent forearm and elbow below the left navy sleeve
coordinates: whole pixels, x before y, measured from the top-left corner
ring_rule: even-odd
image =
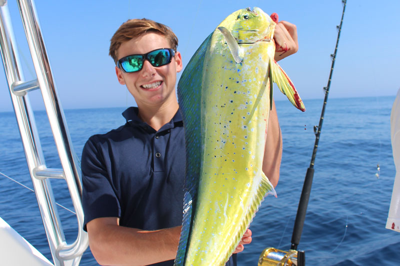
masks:
[[[148,265],[175,259],[180,226],[143,231],[119,226],[119,218],[87,223],[91,253],[100,265]]]

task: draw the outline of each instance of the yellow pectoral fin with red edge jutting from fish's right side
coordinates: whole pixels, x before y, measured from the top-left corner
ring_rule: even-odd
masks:
[[[294,88],[293,83],[290,78],[286,75],[283,69],[273,60],[270,63],[272,67],[272,80],[276,83],[279,90],[286,95],[287,99],[299,110],[305,111],[304,104],[298,95],[296,89]]]

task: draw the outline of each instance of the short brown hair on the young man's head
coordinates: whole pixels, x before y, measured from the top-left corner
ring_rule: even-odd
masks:
[[[123,42],[140,37],[149,31],[165,36],[171,45],[170,48],[176,51],[176,47],[178,46],[178,38],[168,26],[146,18],[129,19],[119,26],[111,38],[109,55],[112,57],[114,62],[116,63],[118,60],[116,51]]]

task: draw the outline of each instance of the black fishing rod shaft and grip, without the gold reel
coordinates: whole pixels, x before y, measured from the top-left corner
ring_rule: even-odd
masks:
[[[305,174],[305,179],[304,179],[303,189],[301,191],[300,201],[298,202],[298,209],[297,209],[297,214],[296,214],[296,220],[294,222],[293,234],[291,237],[290,250],[297,250],[297,246],[298,246],[298,243],[300,242],[300,237],[301,237],[301,233],[303,230],[305,213],[307,211],[308,199],[309,199],[309,194],[311,191],[312,178],[314,176],[314,161],[315,161],[315,156],[316,156],[316,149],[318,148],[319,135],[321,134],[323,115],[325,113],[325,106],[326,106],[326,102],[328,99],[330,81],[331,81],[332,73],[333,73],[333,66],[334,66],[334,62],[336,59],[337,45],[339,44],[339,37],[340,37],[341,25],[343,23],[344,9],[346,7],[346,0],[342,0],[342,3],[343,3],[343,12],[341,14],[340,25],[336,26],[338,29],[336,46],[334,48],[334,53],[331,54],[332,66],[330,67],[328,84],[326,87],[323,88],[323,90],[325,92],[325,98],[323,100],[321,116],[319,118],[319,125],[314,126],[315,144],[314,144],[314,149],[312,151],[311,162],[310,162],[307,172]]]

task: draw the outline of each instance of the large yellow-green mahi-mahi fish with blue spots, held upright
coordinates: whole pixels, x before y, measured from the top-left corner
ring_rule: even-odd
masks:
[[[224,265],[264,196],[275,194],[262,172],[272,82],[305,110],[273,59],[275,25],[257,7],[230,14],[179,79],[186,192],[176,266]]]

